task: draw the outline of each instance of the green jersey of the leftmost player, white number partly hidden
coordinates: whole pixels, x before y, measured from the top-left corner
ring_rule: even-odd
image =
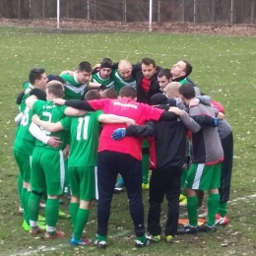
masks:
[[[32,110],[27,106],[14,141],[14,150],[30,156],[32,156],[32,151],[35,146],[35,138],[29,131],[32,123],[32,115]]]

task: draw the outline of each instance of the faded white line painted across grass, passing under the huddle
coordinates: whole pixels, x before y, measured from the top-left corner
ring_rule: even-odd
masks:
[[[246,200],[246,199],[252,199],[252,198],[256,198],[256,194],[252,194],[250,196],[245,196],[245,197],[234,198],[234,199],[230,200],[229,203],[242,201],[242,200]],[[183,215],[180,215],[179,217],[183,218],[183,217],[186,217],[186,216],[187,216],[187,214],[183,214]],[[162,222],[164,222],[164,220],[162,220]],[[109,238],[115,238],[115,237],[118,237],[118,236],[123,236],[123,235],[128,234],[129,232],[130,232],[130,230],[124,229],[124,230],[121,230],[121,231],[117,232],[114,235],[109,236]],[[59,248],[67,248],[67,247],[70,247],[70,245],[69,244],[59,244],[59,245],[56,245],[54,247],[53,246],[52,247],[38,246],[38,249],[29,250],[29,251],[20,252],[20,253],[18,252],[18,253],[10,254],[9,256],[28,256],[28,255],[33,255],[33,254],[39,254],[39,253],[42,253],[42,252],[55,251],[55,250],[58,250]]]

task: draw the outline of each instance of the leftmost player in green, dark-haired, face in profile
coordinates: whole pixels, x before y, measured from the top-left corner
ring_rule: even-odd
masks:
[[[47,77],[43,68],[33,68],[29,74],[30,82],[26,83],[27,94],[22,97],[20,104],[21,122],[20,127],[17,129],[14,141],[14,157],[20,169],[20,176],[22,178],[22,189],[20,198],[22,208],[24,209],[24,222],[23,227],[25,230],[30,230],[29,213],[28,213],[28,200],[31,194],[31,159],[32,151],[35,145],[34,138],[29,132],[29,127],[32,122],[32,111],[26,107],[25,100],[30,96],[29,92],[33,88],[45,90]],[[29,89],[29,90],[28,90]]]

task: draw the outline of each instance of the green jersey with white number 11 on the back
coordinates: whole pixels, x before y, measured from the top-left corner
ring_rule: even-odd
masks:
[[[80,117],[67,116],[61,120],[65,130],[70,130],[70,156],[68,165],[96,166],[101,110],[88,112]]]

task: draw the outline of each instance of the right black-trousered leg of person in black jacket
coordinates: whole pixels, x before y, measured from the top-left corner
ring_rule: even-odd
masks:
[[[165,194],[168,201],[167,222],[164,231],[167,242],[172,240],[177,231],[181,172],[181,167],[171,166],[164,169],[164,177],[166,179]]]

